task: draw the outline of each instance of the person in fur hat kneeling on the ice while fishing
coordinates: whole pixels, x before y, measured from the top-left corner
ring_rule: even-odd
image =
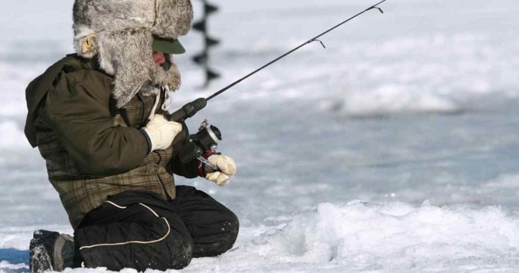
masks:
[[[182,163],[185,124],[165,119],[180,86],[172,54],[193,20],[189,0],[76,0],[74,47],[26,90],[25,134],[47,162],[74,237],[38,230],[33,272],[66,267],[108,270],[186,267],[220,255],[238,218],[173,173],[225,185],[234,161],[209,152],[220,171]],[[212,170],[212,169],[211,169]]]

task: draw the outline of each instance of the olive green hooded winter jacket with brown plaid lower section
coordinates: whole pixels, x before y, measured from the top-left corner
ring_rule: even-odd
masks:
[[[147,154],[139,129],[156,98],[138,94],[115,109],[111,84],[112,77],[95,61],[68,55],[26,89],[25,135],[46,160],[49,180],[74,229],[108,196],[145,190],[174,199],[171,173],[194,177],[174,153],[186,140],[186,131],[168,149]],[[167,114],[160,107],[156,113]]]

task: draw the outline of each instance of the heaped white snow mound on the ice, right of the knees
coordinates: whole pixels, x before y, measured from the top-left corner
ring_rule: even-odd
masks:
[[[240,271],[254,265],[258,271],[507,271],[519,264],[518,228],[517,219],[500,207],[323,203],[217,261],[194,261],[188,270]]]

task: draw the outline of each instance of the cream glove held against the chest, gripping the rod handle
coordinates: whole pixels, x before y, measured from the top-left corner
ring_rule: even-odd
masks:
[[[151,142],[151,151],[167,149],[173,139],[182,132],[182,124],[174,121],[167,121],[163,115],[154,115],[146,127],[142,128]]]

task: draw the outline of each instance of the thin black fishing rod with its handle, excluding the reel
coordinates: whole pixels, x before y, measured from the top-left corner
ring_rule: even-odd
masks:
[[[368,7],[368,8],[366,8],[366,9],[364,9],[363,11],[359,12],[358,14],[356,14],[356,15],[354,15],[354,16],[352,16],[352,17],[346,19],[346,20],[344,20],[343,22],[340,22],[339,24],[335,25],[333,28],[330,28],[330,29],[324,31],[323,33],[321,33],[321,34],[319,34],[319,35],[317,35],[317,36],[311,38],[310,40],[306,41],[305,43],[303,43],[303,44],[301,44],[301,45],[295,47],[294,49],[288,51],[287,53],[285,53],[285,54],[279,56],[278,58],[276,58],[276,59],[274,59],[274,60],[268,62],[268,63],[265,64],[264,66],[262,66],[262,67],[260,67],[260,68],[258,68],[258,69],[256,69],[256,70],[252,71],[251,73],[249,73],[249,74],[243,76],[241,79],[237,80],[236,82],[231,83],[231,84],[227,85],[226,87],[224,87],[224,88],[218,90],[218,91],[217,91],[216,93],[214,93],[213,95],[211,95],[211,96],[209,96],[209,97],[207,97],[207,98],[198,98],[198,99],[196,99],[196,100],[194,100],[194,101],[192,101],[192,102],[187,103],[187,104],[184,105],[181,109],[179,109],[179,110],[175,111],[174,113],[168,115],[168,116],[166,117],[167,120],[169,120],[169,121],[176,121],[176,122],[184,122],[186,119],[191,118],[191,117],[194,116],[198,111],[200,111],[200,110],[202,110],[203,108],[205,108],[205,107],[207,106],[207,102],[208,102],[209,100],[211,100],[211,99],[213,99],[214,97],[216,97],[216,96],[218,96],[218,95],[224,93],[225,91],[227,91],[228,89],[230,89],[230,88],[234,87],[235,85],[241,83],[242,81],[244,81],[244,80],[247,79],[248,77],[250,77],[250,76],[252,76],[252,75],[254,75],[254,74],[256,74],[256,73],[262,71],[263,69],[269,67],[271,64],[273,64],[273,63],[275,63],[275,62],[277,62],[277,61],[283,59],[284,57],[286,57],[286,56],[288,56],[288,55],[294,53],[294,51],[297,51],[298,49],[301,49],[302,47],[304,47],[304,46],[306,46],[306,45],[308,45],[308,44],[311,44],[311,43],[313,43],[313,42],[319,42],[319,43],[321,43],[321,45],[322,45],[324,48],[326,48],[326,46],[324,46],[324,43],[323,43],[322,41],[319,40],[319,38],[320,38],[321,36],[323,36],[323,35],[325,35],[325,34],[331,32],[331,31],[335,30],[336,28],[340,27],[341,25],[343,25],[343,24],[345,24],[345,23],[347,23],[347,22],[349,22],[349,21],[351,21],[351,20],[353,20],[353,19],[355,19],[355,18],[361,16],[361,15],[364,14],[365,12],[370,11],[370,10],[372,10],[372,9],[377,9],[377,10],[379,10],[381,13],[384,13],[384,11],[383,11],[380,7],[378,7],[378,5],[380,5],[380,4],[382,4],[382,3],[386,2],[386,1],[387,1],[387,0],[380,1],[380,2],[378,2],[377,4],[375,4],[375,5],[371,6],[371,7]]]

